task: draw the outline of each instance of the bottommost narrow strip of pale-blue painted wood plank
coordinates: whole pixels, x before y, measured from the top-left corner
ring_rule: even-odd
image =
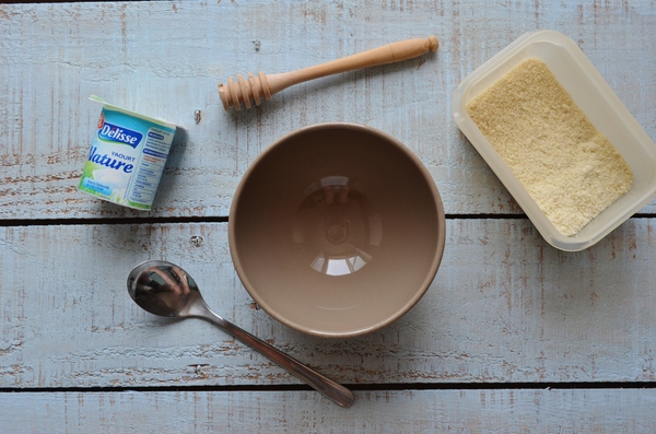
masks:
[[[8,433],[648,433],[653,389],[0,394]]]

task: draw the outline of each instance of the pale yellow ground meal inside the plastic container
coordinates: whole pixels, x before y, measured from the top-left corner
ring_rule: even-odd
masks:
[[[564,235],[578,233],[633,184],[624,159],[541,60],[525,60],[467,112]]]

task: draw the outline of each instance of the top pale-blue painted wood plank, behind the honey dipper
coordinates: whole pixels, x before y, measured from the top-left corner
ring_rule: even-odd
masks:
[[[407,143],[447,213],[520,213],[452,121],[453,89],[525,32],[557,30],[656,138],[655,9],[653,0],[1,4],[0,218],[144,215],[77,190],[99,114],[91,93],[188,128],[154,215],[226,215],[262,149],[324,121],[370,125]],[[284,72],[430,34],[442,43],[435,55],[305,83],[257,110],[224,113],[216,93],[237,73]],[[656,202],[643,210],[655,211]]]

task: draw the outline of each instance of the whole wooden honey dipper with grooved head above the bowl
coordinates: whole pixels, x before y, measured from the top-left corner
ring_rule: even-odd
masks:
[[[219,83],[219,95],[226,110],[230,110],[230,107],[235,107],[235,110],[238,112],[242,109],[242,103],[244,103],[246,108],[251,107],[251,101],[258,106],[262,103],[262,98],[269,101],[271,99],[271,95],[294,84],[355,69],[412,59],[429,50],[437,51],[438,46],[437,38],[429,36],[425,39],[415,38],[388,44],[296,71],[270,75],[259,72],[257,77],[248,72],[248,79],[244,79],[242,74],[237,74],[237,81],[230,78],[227,79],[227,84]]]

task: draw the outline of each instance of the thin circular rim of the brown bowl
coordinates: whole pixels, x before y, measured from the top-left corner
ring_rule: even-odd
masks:
[[[302,134],[306,134],[308,132],[321,131],[321,130],[327,130],[327,129],[350,129],[350,130],[358,130],[361,132],[365,132],[368,134],[374,134],[385,141],[387,141],[388,143],[390,143],[395,148],[397,148],[399,151],[401,151],[410,160],[410,162],[414,165],[414,167],[418,169],[419,174],[425,181],[425,185],[429,187],[429,189],[431,191],[431,196],[433,198],[433,203],[435,206],[437,223],[438,223],[437,224],[437,243],[435,245],[435,250],[433,253],[433,259],[431,261],[431,267],[430,267],[429,271],[426,272],[423,281],[421,282],[421,285],[418,288],[418,291],[415,291],[413,293],[412,297],[410,297],[403,305],[401,305],[398,309],[395,310],[395,313],[393,315],[388,316],[387,318],[379,320],[375,324],[372,324],[367,327],[348,330],[348,331],[329,331],[329,330],[323,330],[323,329],[317,330],[312,327],[303,326],[296,321],[293,321],[293,320],[280,315],[274,309],[272,309],[271,306],[269,306],[261,298],[261,296],[258,294],[255,285],[248,279],[248,275],[246,275],[246,272],[245,272],[242,261],[239,259],[239,250],[236,247],[236,233],[235,233],[236,225],[233,223],[233,222],[235,222],[236,211],[237,211],[241,198],[242,198],[242,191],[244,190],[245,185],[247,184],[247,180],[250,178],[253,172],[255,172],[257,169],[257,167],[260,165],[261,161],[265,160],[276,149],[278,149],[279,146],[286,143],[292,138],[295,138],[295,137],[302,136]],[[353,338],[353,337],[367,335],[370,332],[378,330],[378,329],[394,322],[395,320],[397,320],[398,318],[403,316],[406,313],[408,313],[408,310],[410,310],[419,302],[419,300],[425,294],[425,292],[431,286],[431,283],[433,282],[433,280],[435,279],[435,275],[437,274],[437,269],[440,268],[440,263],[442,262],[442,258],[444,256],[444,248],[445,248],[445,244],[446,244],[446,215],[444,213],[444,204],[442,201],[442,197],[440,196],[440,191],[437,190],[435,180],[431,176],[427,168],[423,165],[421,160],[408,146],[406,146],[402,142],[400,142],[396,138],[389,136],[388,133],[380,131],[373,127],[368,127],[368,126],[364,126],[364,125],[360,125],[360,124],[351,124],[351,122],[321,122],[321,124],[315,124],[315,125],[302,127],[302,128],[295,129],[295,130],[286,133],[285,136],[279,138],[271,145],[269,145],[266,150],[263,150],[248,166],[248,168],[244,173],[244,176],[239,180],[237,189],[235,190],[235,193],[233,196],[233,201],[231,204],[227,226],[229,226],[230,254],[231,254],[231,257],[233,260],[233,266],[234,266],[235,270],[237,271],[237,275],[239,277],[239,280],[242,281],[242,284],[244,285],[244,288],[246,289],[248,294],[253,297],[253,300],[265,312],[267,312],[267,314],[269,314],[271,317],[273,317],[278,321],[284,324],[285,326],[289,326],[301,332],[304,332],[304,333],[307,333],[311,336],[320,337],[320,338]]]

